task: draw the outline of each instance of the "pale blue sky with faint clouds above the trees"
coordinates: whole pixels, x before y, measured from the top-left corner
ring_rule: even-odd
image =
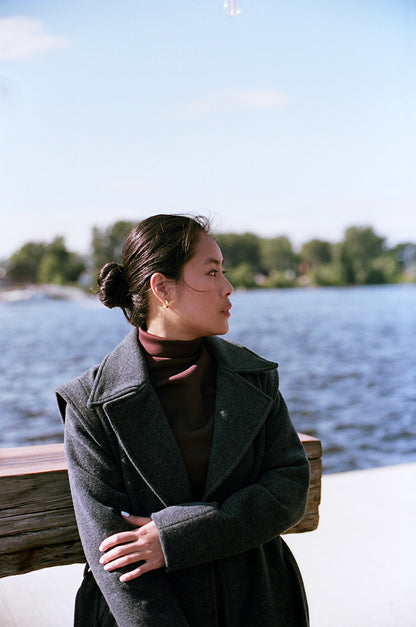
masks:
[[[0,258],[152,213],[416,241],[411,0],[0,0]]]

